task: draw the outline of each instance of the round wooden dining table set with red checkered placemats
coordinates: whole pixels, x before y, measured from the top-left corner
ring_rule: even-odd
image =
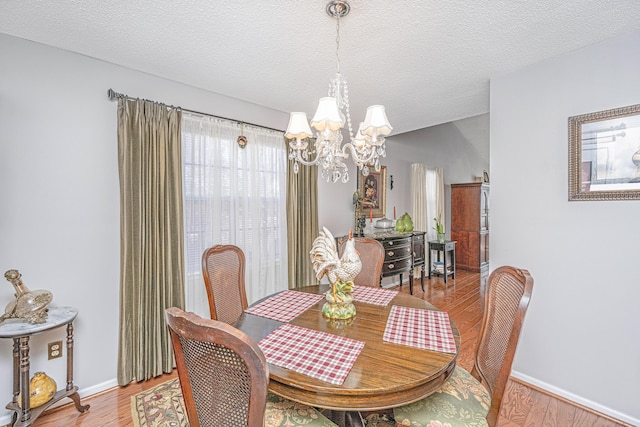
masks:
[[[460,350],[460,333],[445,312],[441,312],[425,300],[403,292],[368,286],[362,288],[369,288],[361,289],[362,295],[366,292],[374,297],[386,299],[382,302],[375,299],[367,302],[366,298],[357,297],[358,289],[354,290],[356,315],[352,319],[330,320],[323,317],[322,306],[326,302],[324,294],[330,289],[330,285],[320,284],[281,291],[256,301],[245,310],[235,324],[266,351],[269,363],[269,390],[272,393],[321,409],[340,426],[363,425],[361,412],[406,405],[432,394],[453,373]],[[295,304],[299,301],[291,304],[287,302],[291,301],[289,298],[292,297],[303,297],[302,299],[306,298],[307,301],[304,302],[304,306],[296,308]],[[274,300],[281,300],[279,303],[282,305],[271,307],[271,314],[269,310],[261,311],[261,308]],[[429,349],[433,347],[429,345],[425,347],[423,335],[424,329],[428,327],[423,323],[416,323],[419,325],[417,329],[422,334],[422,341],[414,343],[422,345],[389,342],[392,320],[396,323],[395,327],[401,330],[401,333],[396,334],[400,338],[412,339],[412,334],[416,333],[404,330],[403,323],[409,322],[411,317],[398,316],[399,310],[411,315],[440,315],[439,319],[445,323],[444,329],[447,329],[449,334],[449,343],[448,347],[445,346],[445,351],[442,351],[443,348]],[[287,317],[288,313],[291,315]],[[414,323],[416,321],[411,320]],[[338,349],[354,345],[355,358],[347,360],[349,358],[345,356],[343,362],[343,356],[335,356],[338,370],[346,367],[346,372],[342,373],[343,378],[310,376],[307,372],[291,369],[292,365],[280,363],[274,359],[274,355],[269,354],[269,351],[277,353],[279,348],[288,347],[289,344],[300,344],[297,342],[300,340],[291,335],[299,331],[320,334],[329,343],[334,343]],[[280,336],[276,337],[278,334]],[[430,339],[428,333],[426,338]],[[277,339],[284,341],[278,342]],[[435,344],[439,345],[438,342]],[[313,342],[302,342],[301,345],[299,351],[316,347]],[[297,351],[295,347],[292,349],[290,352]],[[303,356],[302,359],[306,360],[298,360],[296,363],[333,363],[334,360],[322,360],[330,357],[332,356]]]

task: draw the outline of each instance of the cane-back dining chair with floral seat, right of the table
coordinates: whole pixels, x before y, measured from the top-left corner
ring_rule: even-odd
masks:
[[[432,421],[457,426],[495,426],[524,320],[533,278],[527,270],[503,266],[487,281],[485,311],[471,373],[456,366],[434,394],[395,408],[401,425]]]

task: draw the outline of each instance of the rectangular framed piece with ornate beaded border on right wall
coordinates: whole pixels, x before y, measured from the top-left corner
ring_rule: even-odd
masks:
[[[569,200],[640,200],[640,104],[569,117]]]

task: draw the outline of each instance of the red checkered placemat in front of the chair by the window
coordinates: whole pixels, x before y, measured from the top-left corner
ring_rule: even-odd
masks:
[[[249,307],[245,312],[280,322],[289,322],[323,298],[324,295],[289,290],[267,298],[260,304]]]

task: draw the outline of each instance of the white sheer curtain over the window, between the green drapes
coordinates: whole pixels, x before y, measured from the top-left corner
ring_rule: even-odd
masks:
[[[245,148],[238,136],[247,138]],[[204,250],[233,244],[246,257],[249,304],[287,289],[286,173],[282,132],[183,113],[186,309],[209,316]]]

